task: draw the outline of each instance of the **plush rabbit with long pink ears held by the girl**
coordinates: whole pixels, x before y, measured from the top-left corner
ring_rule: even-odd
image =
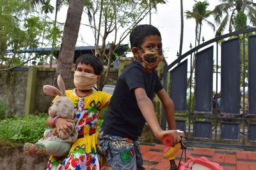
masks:
[[[58,117],[73,119],[74,104],[65,94],[65,85],[60,75],[58,76],[57,81],[60,90],[51,85],[44,85],[45,94],[49,96],[59,96],[54,100],[52,106],[49,108],[49,116],[54,118],[53,122],[56,122]],[[68,123],[72,126],[69,134],[65,134],[62,131],[58,133],[56,127],[46,129],[44,132],[44,138],[40,139],[37,143],[24,144],[24,154],[37,156],[53,155],[56,157],[63,157],[67,155],[72,143],[76,141],[78,136],[78,133],[74,128],[74,122]]]

